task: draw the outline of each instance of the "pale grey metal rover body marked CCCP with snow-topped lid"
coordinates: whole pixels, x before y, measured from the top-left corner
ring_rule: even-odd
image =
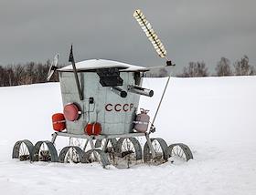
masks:
[[[76,67],[82,99],[73,67],[58,70],[63,107],[73,103],[80,109],[77,120],[66,121],[68,133],[83,135],[86,125],[92,122],[101,124],[102,135],[133,132],[140,96],[128,88],[141,86],[140,74],[146,68],[103,59],[82,61]]]

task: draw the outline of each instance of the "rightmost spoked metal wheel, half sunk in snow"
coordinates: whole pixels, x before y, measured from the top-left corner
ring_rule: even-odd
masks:
[[[168,147],[168,149],[169,157],[175,157],[185,161],[193,159],[191,150],[183,143],[172,144]]]

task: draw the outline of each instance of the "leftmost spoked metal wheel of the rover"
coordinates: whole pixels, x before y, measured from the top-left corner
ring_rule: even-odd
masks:
[[[34,145],[31,143],[31,141],[24,139],[19,140],[16,142],[14,148],[13,148],[13,159],[19,159],[21,161],[32,159],[32,151],[33,151]]]

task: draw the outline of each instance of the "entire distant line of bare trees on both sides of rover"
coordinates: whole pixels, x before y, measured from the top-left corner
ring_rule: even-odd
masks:
[[[59,65],[64,67],[65,65]],[[50,60],[46,63],[29,62],[26,64],[0,66],[0,87],[28,85],[47,82]],[[215,67],[215,73],[210,74],[205,62],[189,62],[177,77],[223,77],[223,76],[252,76],[256,68],[249,63],[248,56],[242,56],[233,64],[226,57],[221,57]],[[58,82],[55,73],[51,81]]]

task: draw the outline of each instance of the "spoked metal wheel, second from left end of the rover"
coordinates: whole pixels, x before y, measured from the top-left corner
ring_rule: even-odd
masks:
[[[37,141],[32,152],[32,161],[58,162],[57,150],[50,141]]]

